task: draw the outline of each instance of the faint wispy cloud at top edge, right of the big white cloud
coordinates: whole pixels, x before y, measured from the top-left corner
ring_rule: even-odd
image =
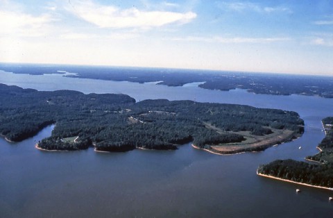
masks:
[[[221,2],[218,4],[219,8],[223,10],[232,10],[237,12],[244,11],[255,11],[261,13],[272,13],[272,12],[291,12],[289,8],[278,6],[278,7],[264,7],[258,3],[252,2]]]

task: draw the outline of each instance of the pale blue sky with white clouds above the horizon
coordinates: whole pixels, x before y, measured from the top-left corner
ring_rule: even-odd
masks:
[[[0,62],[333,76],[333,1],[0,0]]]

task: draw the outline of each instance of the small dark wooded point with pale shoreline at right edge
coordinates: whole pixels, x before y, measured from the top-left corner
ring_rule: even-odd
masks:
[[[326,117],[322,122],[326,135],[317,146],[320,152],[306,158],[316,163],[275,160],[260,165],[257,174],[333,190],[333,117]]]

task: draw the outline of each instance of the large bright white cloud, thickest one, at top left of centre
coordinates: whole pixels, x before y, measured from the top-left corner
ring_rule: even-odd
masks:
[[[196,18],[194,12],[144,11],[137,8],[121,10],[92,1],[71,1],[67,8],[80,19],[100,28],[151,28],[167,24],[186,24]]]

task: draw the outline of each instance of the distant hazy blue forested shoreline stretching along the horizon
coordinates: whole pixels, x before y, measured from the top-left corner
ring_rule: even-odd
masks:
[[[15,74],[65,74],[76,78],[134,83],[157,82],[159,85],[182,86],[202,82],[199,87],[210,90],[248,90],[257,94],[303,94],[333,98],[333,77],[287,74],[254,74],[249,72],[217,72],[189,69],[139,67],[87,67],[70,65],[0,64],[0,69]]]

